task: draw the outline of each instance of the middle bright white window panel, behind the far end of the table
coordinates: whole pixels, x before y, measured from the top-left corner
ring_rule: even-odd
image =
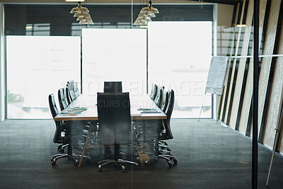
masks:
[[[123,91],[146,93],[146,30],[83,29],[83,93],[122,81]]]

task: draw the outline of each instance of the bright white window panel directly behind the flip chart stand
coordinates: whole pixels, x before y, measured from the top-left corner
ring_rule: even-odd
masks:
[[[149,86],[173,88],[173,118],[212,117],[204,89],[212,57],[212,22],[149,23]]]

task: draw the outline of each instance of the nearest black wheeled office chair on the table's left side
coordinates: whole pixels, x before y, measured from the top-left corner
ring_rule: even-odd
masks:
[[[49,100],[49,106],[50,106],[50,111],[51,111],[52,117],[55,118],[55,116],[59,114],[59,111],[58,111],[57,105],[55,103],[54,95],[50,94],[48,100]],[[75,166],[78,165],[79,161],[74,156],[72,156],[71,145],[69,145],[70,144],[69,128],[68,128],[69,125],[63,125],[62,121],[54,121],[54,122],[55,122],[55,125],[56,125],[56,130],[55,130],[53,142],[56,143],[56,144],[63,144],[63,145],[67,144],[68,145],[68,153],[67,154],[56,154],[56,155],[52,156],[51,164],[54,166],[58,159],[68,158],[69,160],[74,161]],[[62,132],[64,132],[64,134]]]

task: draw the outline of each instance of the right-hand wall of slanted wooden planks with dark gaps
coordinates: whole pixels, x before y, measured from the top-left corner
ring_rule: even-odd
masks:
[[[260,1],[260,55],[283,54],[282,17],[282,0]],[[246,27],[237,27],[238,24],[244,24]],[[234,130],[253,137],[250,132],[253,127],[253,59],[246,57],[253,55],[253,0],[238,4],[234,10],[230,32],[227,55],[236,57],[229,59],[218,118]],[[225,50],[220,51],[219,55],[225,55]],[[275,127],[279,122],[279,110],[282,107],[282,59],[270,56],[260,58],[258,142],[270,149],[274,144]],[[282,139],[277,150],[283,152],[281,143]]]

